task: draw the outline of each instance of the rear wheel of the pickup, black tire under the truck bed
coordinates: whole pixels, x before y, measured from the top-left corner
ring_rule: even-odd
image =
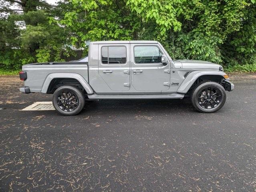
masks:
[[[76,115],[85,106],[85,95],[76,86],[61,86],[53,93],[52,104],[62,115]]]

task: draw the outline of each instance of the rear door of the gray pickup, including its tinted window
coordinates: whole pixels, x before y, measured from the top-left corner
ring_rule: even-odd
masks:
[[[99,75],[113,92],[130,89],[129,44],[99,44]]]

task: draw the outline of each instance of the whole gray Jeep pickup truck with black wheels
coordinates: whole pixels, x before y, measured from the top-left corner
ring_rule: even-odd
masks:
[[[86,100],[183,99],[200,112],[215,112],[234,84],[222,66],[172,60],[157,41],[99,41],[89,45],[88,62],[46,62],[22,66],[22,93],[53,94],[62,115],[78,114]]]

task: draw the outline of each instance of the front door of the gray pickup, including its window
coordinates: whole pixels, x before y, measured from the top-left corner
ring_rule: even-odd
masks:
[[[137,91],[161,92],[170,86],[170,64],[161,63],[158,44],[131,44],[131,84]]]

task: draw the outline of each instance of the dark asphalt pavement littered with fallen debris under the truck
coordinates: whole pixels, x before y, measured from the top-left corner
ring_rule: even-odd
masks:
[[[0,191],[256,191],[256,74],[214,114],[183,100],[101,100],[77,116],[20,111],[0,76]]]

